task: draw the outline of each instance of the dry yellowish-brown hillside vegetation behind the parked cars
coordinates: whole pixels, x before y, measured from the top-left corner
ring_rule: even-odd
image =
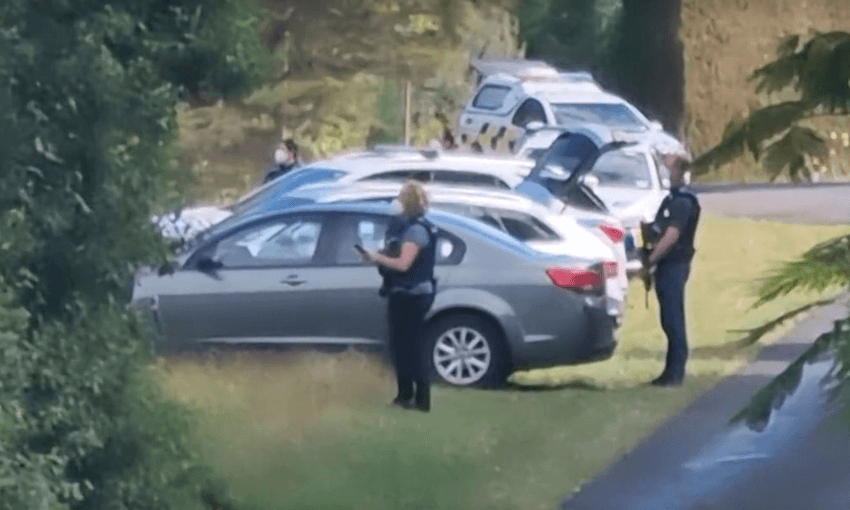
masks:
[[[411,135],[438,135],[470,93],[470,57],[517,56],[511,2],[277,1],[264,38],[277,75],[250,96],[179,112],[184,166],[196,195],[226,199],[256,184],[273,144],[294,137],[320,157],[403,137],[404,82]]]

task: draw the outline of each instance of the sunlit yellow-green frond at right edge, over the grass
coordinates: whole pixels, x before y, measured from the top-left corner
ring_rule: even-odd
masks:
[[[814,246],[799,260],[787,262],[759,283],[761,306],[794,290],[823,291],[833,285],[850,285],[850,236]]]

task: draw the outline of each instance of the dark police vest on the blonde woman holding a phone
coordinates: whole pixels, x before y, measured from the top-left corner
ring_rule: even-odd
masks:
[[[401,254],[401,239],[407,229],[414,225],[422,225],[428,232],[428,244],[419,250],[416,259],[406,272],[401,273],[379,266],[378,271],[384,277],[382,290],[412,289],[419,284],[431,282],[436,292],[437,281],[434,278],[434,265],[437,261],[437,227],[424,217],[393,218],[387,226],[384,240],[384,254],[388,257],[398,257]]]

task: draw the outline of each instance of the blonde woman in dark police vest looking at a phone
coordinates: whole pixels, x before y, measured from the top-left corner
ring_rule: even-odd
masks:
[[[388,301],[389,344],[398,383],[393,404],[428,412],[430,365],[423,330],[437,290],[437,228],[425,219],[428,198],[418,182],[404,185],[393,208],[395,215],[387,227],[385,249],[365,251],[363,256],[378,266],[384,278],[379,292]]]

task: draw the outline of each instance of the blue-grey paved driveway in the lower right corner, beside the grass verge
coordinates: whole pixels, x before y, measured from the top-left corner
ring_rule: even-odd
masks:
[[[850,431],[816,402],[831,364],[804,368],[758,432],[730,419],[847,316],[817,309],[758,361],[708,391],[561,505],[561,510],[847,510]],[[659,391],[675,391],[659,390]],[[844,428],[836,427],[844,425]]]

